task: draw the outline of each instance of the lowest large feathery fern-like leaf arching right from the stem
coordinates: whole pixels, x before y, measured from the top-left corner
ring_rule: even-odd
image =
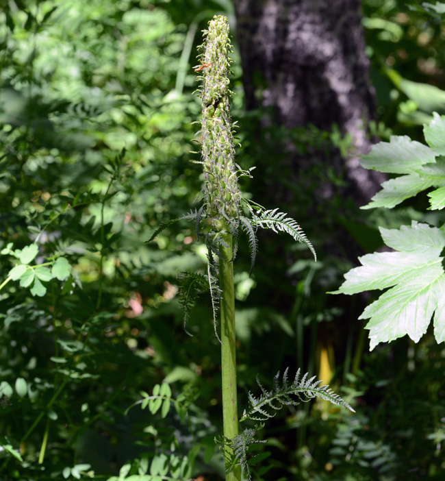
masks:
[[[355,412],[349,404],[339,395],[335,394],[329,386],[320,386],[321,381],[316,381],[315,376],[309,378],[306,373],[300,378],[300,369],[296,371],[296,375],[292,384],[288,381],[288,369],[285,370],[282,380],[277,373],[274,378],[274,386],[268,391],[257,379],[262,395],[259,397],[248,394],[251,408],[244,410],[240,421],[253,419],[253,421],[266,421],[270,417],[274,417],[277,410],[283,406],[297,406],[300,402],[308,402],[314,397],[320,397],[326,401],[335,404],[335,406],[344,406]]]

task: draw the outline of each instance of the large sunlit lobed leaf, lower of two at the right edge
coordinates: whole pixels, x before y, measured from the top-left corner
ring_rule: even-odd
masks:
[[[369,319],[370,349],[407,334],[418,342],[434,315],[437,343],[445,340],[445,273],[440,254],[445,229],[413,221],[400,229],[380,229],[393,252],[367,254],[361,267],[346,273],[332,294],[355,294],[389,288],[359,319]]]

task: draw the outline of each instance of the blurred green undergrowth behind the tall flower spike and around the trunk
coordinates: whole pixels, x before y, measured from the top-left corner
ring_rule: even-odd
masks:
[[[188,336],[176,295],[177,273],[203,267],[205,252],[190,224],[144,240],[199,195],[201,169],[189,162],[190,123],[201,114],[195,47],[214,13],[233,21],[231,3],[8,5],[0,13],[0,478],[220,480],[211,306],[205,298],[196,305]],[[421,139],[433,110],[445,113],[445,93],[431,90],[444,81],[445,27],[440,9],[421,6],[363,3],[376,140]],[[271,188],[282,132],[270,132],[266,151],[255,147],[249,125],[260,112],[244,111],[240,62],[233,71],[238,162],[257,167],[242,188],[259,199]],[[346,155],[348,139],[333,132],[308,125],[293,135],[301,149],[335,142]],[[356,413],[322,403],[283,410],[262,433],[269,441],[259,445],[258,476],[442,480],[443,346],[429,333],[370,353],[357,321],[369,299],[325,294],[353,265],[340,230],[354,249],[372,252],[381,246],[377,225],[418,220],[427,202],[371,212],[334,198],[309,216],[326,172],[311,175],[286,188],[302,193],[296,218],[315,247],[329,240],[316,264],[292,239],[265,233],[249,277],[240,245],[239,391],[254,389],[259,372],[267,383],[285,366],[301,367],[333,384]],[[285,184],[285,171],[276,177]],[[442,217],[427,220],[440,225]],[[128,410],[162,382],[175,402],[147,399]]]

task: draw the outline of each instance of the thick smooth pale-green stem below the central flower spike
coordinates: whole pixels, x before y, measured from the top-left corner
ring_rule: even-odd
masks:
[[[228,439],[238,434],[238,402],[236,395],[236,334],[235,334],[235,290],[233,287],[233,239],[224,233],[220,258],[221,299],[221,370],[223,375],[223,430]],[[227,447],[225,448],[227,449]],[[231,466],[226,453],[226,481],[240,481],[240,465]]]

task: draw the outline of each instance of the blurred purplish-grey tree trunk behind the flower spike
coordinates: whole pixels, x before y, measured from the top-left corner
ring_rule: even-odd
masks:
[[[294,171],[320,155],[335,171],[346,169],[350,193],[362,205],[379,190],[381,174],[362,169],[357,154],[368,153],[366,125],[374,99],[368,79],[359,0],[235,0],[243,83],[248,109],[272,112],[263,125],[338,125],[351,134],[346,160],[329,153],[294,152]],[[288,145],[292,153],[292,145]],[[323,197],[331,197],[323,186]]]

